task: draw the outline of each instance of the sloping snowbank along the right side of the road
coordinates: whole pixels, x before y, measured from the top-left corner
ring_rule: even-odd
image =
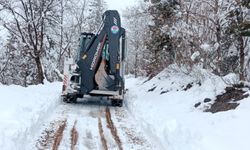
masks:
[[[224,91],[222,78],[205,70],[187,75],[166,69],[150,81],[129,77],[126,86],[128,109],[164,149],[249,150],[250,98],[216,114],[203,112],[211,102],[194,107]]]

